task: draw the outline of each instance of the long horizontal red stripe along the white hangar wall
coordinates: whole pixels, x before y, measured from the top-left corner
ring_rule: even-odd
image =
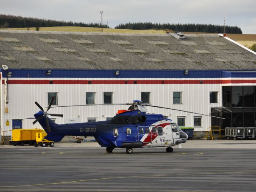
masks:
[[[246,80],[8,80],[8,84],[232,84],[256,83]],[[4,80],[2,80],[4,84]]]

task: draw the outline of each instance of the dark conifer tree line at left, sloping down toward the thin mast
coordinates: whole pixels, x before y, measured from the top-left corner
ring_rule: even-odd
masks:
[[[0,14],[0,28],[29,28],[29,27],[56,27],[56,26],[79,26],[79,27],[101,27],[101,23],[83,23],[72,21],[56,21],[38,19],[32,17],[21,17]],[[108,26],[103,24],[104,28]]]

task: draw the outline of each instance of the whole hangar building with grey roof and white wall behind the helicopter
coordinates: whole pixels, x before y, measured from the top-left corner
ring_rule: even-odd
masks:
[[[123,105],[142,100],[179,126],[204,132],[211,126],[254,126],[256,53],[221,34],[110,34],[0,30],[2,135],[40,128],[29,119],[34,104],[51,108],[58,124],[112,118]]]

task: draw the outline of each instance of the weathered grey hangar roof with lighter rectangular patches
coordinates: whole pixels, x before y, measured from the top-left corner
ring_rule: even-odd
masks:
[[[0,30],[0,62],[12,69],[256,69],[256,55],[224,37],[184,37]]]

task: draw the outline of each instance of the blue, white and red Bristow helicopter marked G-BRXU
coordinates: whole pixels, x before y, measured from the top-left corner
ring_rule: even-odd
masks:
[[[162,114],[149,114],[146,106],[171,110],[177,109],[142,104],[140,100],[133,100],[130,103],[110,104],[130,105],[128,110],[118,110],[116,116],[111,120],[74,124],[56,124],[48,117],[48,115],[59,117],[63,117],[63,115],[48,113],[53,101],[54,97],[50,100],[46,111],[44,111],[38,102],[35,102],[38,108],[40,108],[40,111],[34,114],[36,120],[33,124],[39,122],[47,133],[47,136],[44,138],[46,140],[59,142],[64,136],[84,136],[85,138],[87,136],[93,136],[100,146],[106,147],[106,153],[112,153],[114,148],[125,148],[126,153],[131,154],[134,148],[151,147],[166,147],[166,152],[173,152],[172,146],[185,143],[188,139],[188,135],[183,132],[174,121],[166,118]],[[72,106],[53,106],[52,108],[54,107]]]

